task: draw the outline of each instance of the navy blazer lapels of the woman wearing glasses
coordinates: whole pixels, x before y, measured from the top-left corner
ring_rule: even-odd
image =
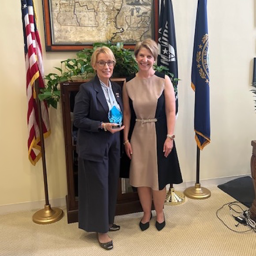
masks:
[[[94,90],[97,92],[98,101],[102,104],[103,109],[105,109],[105,112],[108,115],[109,114],[109,106],[107,104],[104,92],[102,90],[102,86],[101,86],[100,80],[98,78],[98,75],[95,75],[92,82],[93,82],[93,85],[94,85]],[[117,100],[117,103],[120,105],[121,111],[123,112],[123,104],[122,104],[122,101],[121,101],[121,95],[120,95],[121,92],[119,90],[119,87],[117,87],[115,85],[115,83],[113,83],[113,82],[111,82],[111,85],[112,85],[112,90],[113,90],[113,93],[114,93],[115,98]]]

